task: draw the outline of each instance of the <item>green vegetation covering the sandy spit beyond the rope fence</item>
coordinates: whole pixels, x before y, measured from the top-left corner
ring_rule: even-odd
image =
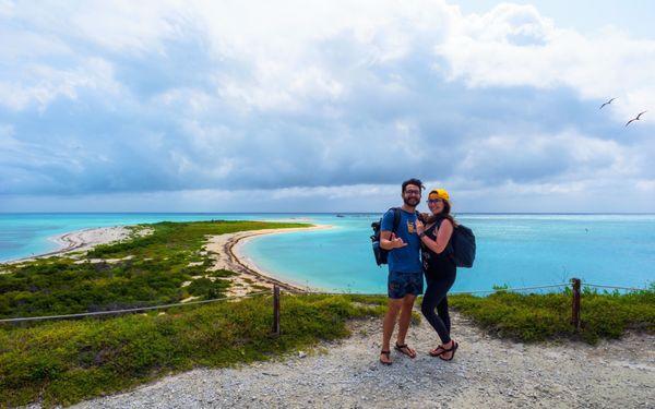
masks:
[[[305,227],[261,221],[194,221],[146,225],[153,233],[98,245],[80,260],[69,255],[2,268],[0,318],[72,314],[172,303],[194,296],[221,297],[230,272],[207,272],[207,234]],[[141,226],[140,228],[145,228]],[[192,280],[192,277],[207,276]],[[184,281],[192,280],[188,287]]]

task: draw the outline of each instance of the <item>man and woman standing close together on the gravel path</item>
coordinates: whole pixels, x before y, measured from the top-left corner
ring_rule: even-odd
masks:
[[[380,362],[384,364],[392,363],[390,342],[398,315],[394,349],[416,358],[416,351],[407,346],[405,337],[414,301],[424,292],[424,275],[427,288],[420,309],[441,339],[441,345],[429,353],[450,361],[458,347],[450,337],[446,299],[448,291],[455,282],[456,266],[450,257],[449,243],[457,225],[450,214],[450,196],[443,189],[433,189],[428,194],[430,214],[419,215],[416,212],[424,189],[418,179],[403,182],[403,206],[400,212],[390,209],[382,217],[380,246],[389,251],[389,309],[384,315],[380,351]]]

